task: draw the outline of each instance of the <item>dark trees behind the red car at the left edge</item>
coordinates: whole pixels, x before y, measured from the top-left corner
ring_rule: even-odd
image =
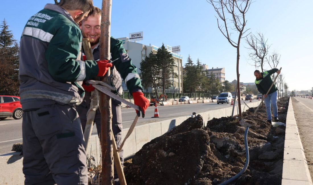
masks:
[[[18,95],[19,43],[5,19],[0,24],[0,94]]]

